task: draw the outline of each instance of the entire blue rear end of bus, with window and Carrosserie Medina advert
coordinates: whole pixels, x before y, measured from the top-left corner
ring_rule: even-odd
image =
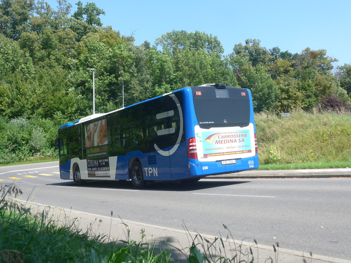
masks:
[[[196,121],[185,125],[192,128],[186,130],[190,176],[258,168],[250,90],[222,85],[191,91]]]

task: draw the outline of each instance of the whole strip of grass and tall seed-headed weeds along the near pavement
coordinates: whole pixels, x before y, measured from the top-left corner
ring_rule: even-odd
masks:
[[[122,221],[126,239],[114,241],[108,235],[96,235],[90,224],[87,230],[79,227],[77,218],[49,217],[45,211],[33,212],[26,203],[15,201],[22,191],[15,184],[0,184],[0,262],[75,262],[75,263],[168,263],[174,262],[171,248],[181,254],[179,262],[190,263],[259,263],[279,262],[279,244],[273,245],[273,256],[259,258],[259,245],[234,241],[229,229],[225,237],[206,238],[192,234],[186,227],[189,246],[183,249],[165,243],[160,249],[155,242],[130,238],[130,229]],[[111,211],[111,222],[113,212]],[[76,224],[77,222],[77,224]],[[112,241],[111,241],[112,240]],[[160,244],[162,245],[162,244]],[[175,250],[174,250],[175,249]],[[311,253],[312,258],[312,253]],[[311,259],[310,258],[310,259]],[[303,259],[306,262],[306,259]],[[312,259],[311,259],[312,262]]]

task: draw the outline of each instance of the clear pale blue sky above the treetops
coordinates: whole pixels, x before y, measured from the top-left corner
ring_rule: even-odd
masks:
[[[78,0],[68,0],[72,12]],[[82,1],[83,5],[87,1]],[[111,25],[122,35],[134,32],[135,45],[151,44],[174,30],[196,30],[216,35],[224,54],[235,44],[260,39],[261,46],[278,46],[282,51],[300,53],[306,47],[326,49],[338,59],[335,66],[351,63],[351,1],[338,0],[217,0],[217,1],[89,1],[106,12],[103,26]],[[56,1],[49,0],[51,7]],[[55,8],[56,9],[56,8]]]

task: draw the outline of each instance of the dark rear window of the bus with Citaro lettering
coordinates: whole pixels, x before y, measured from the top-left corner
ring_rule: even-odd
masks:
[[[192,87],[194,109],[201,128],[250,123],[250,98],[246,89],[214,86]]]

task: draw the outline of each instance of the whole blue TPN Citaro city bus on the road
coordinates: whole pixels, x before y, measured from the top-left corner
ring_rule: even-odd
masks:
[[[58,129],[61,179],[195,182],[258,168],[249,89],[186,87]]]

